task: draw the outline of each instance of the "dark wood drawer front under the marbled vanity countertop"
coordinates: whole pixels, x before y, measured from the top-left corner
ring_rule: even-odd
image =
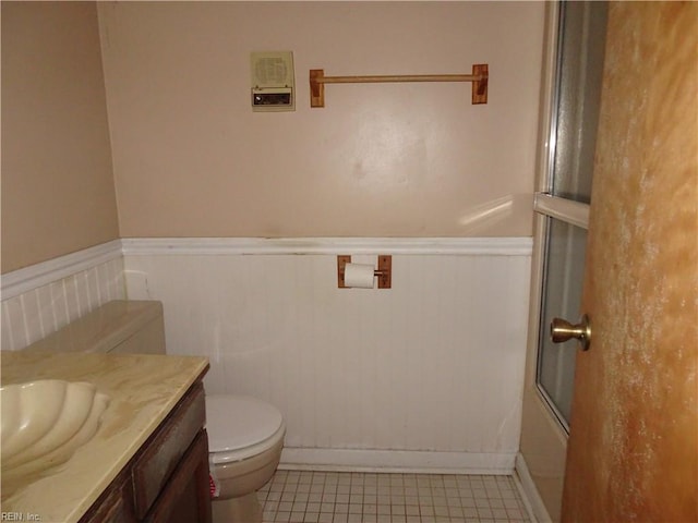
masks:
[[[204,387],[194,385],[133,466],[135,513],[143,519],[206,421]]]

